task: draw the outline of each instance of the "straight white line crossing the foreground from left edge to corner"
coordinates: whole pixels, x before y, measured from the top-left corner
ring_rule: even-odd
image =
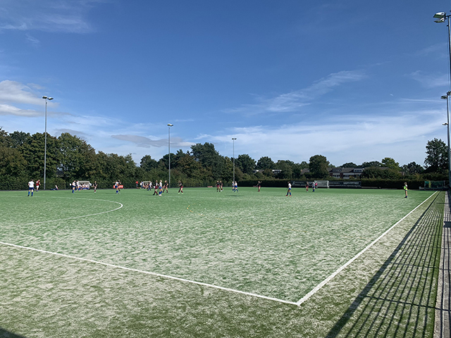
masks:
[[[297,305],[297,303],[295,303],[294,301],[285,301],[283,299],[277,299],[277,298],[273,298],[273,297],[262,296],[260,294],[252,294],[251,292],[244,292],[244,291],[240,291],[240,290],[236,290],[236,289],[230,289],[228,287],[219,287],[218,285],[208,284],[208,283],[203,283],[203,282],[197,282],[195,280],[186,280],[185,278],[174,277],[174,276],[169,276],[169,275],[163,275],[161,273],[152,273],[150,271],[139,270],[139,269],[134,269],[134,268],[127,268],[125,266],[115,265],[115,264],[110,264],[110,263],[104,263],[104,262],[100,262],[100,261],[94,261],[92,259],[80,258],[80,257],[76,257],[76,256],[69,256],[69,255],[65,255],[64,253],[45,251],[45,250],[41,250],[41,249],[30,248],[28,246],[21,246],[21,245],[5,243],[5,242],[0,242],[0,244],[6,245],[6,246],[13,246],[13,247],[19,248],[19,249],[26,249],[26,250],[37,251],[37,252],[41,252],[41,253],[48,253],[48,254],[54,255],[54,256],[61,256],[61,257],[65,257],[65,258],[71,258],[71,259],[75,259],[75,260],[78,260],[78,261],[85,261],[85,262],[89,262],[89,263],[105,265],[105,266],[109,266],[110,268],[127,270],[127,271],[132,271],[132,272],[135,272],[135,273],[144,273],[146,275],[152,275],[152,276],[156,276],[156,277],[163,277],[163,278],[166,278],[168,280],[177,280],[179,282],[187,282],[187,283],[190,283],[190,284],[202,285],[203,287],[210,287],[212,289],[220,289],[220,290],[223,290],[223,291],[226,291],[226,292],[234,292],[236,294],[244,294],[246,296],[252,296],[252,297],[256,297],[256,298],[266,299],[268,301],[277,301],[278,303]]]

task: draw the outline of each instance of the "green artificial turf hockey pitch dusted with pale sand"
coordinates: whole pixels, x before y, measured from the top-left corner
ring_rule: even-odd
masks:
[[[347,268],[352,282],[334,278],[296,306],[433,192],[412,191],[408,199],[402,190],[285,193],[279,188],[260,193],[192,188],[184,194],[172,189],[163,196],[138,189],[32,197],[0,192],[0,274],[5,276],[0,333],[263,337],[266,332],[276,337],[284,328],[274,313],[290,318],[309,303],[316,304],[315,311],[318,303],[336,308],[340,299],[328,299],[325,292],[333,287],[340,294],[352,282],[368,282],[433,200]],[[348,293],[351,301],[359,291],[354,286]],[[324,337],[315,332],[333,326],[334,311],[329,312],[322,324],[315,315],[304,315],[299,337]]]

